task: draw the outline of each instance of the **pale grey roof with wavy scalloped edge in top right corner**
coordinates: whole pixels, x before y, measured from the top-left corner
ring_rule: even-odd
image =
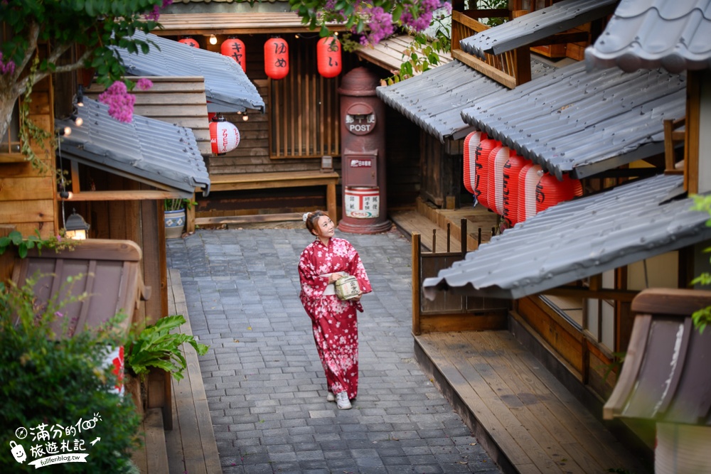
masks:
[[[670,72],[711,68],[708,0],[622,0],[602,35],[585,50],[588,68]]]

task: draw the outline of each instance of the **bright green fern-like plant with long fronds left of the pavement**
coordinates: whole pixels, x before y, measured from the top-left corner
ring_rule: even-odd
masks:
[[[127,351],[127,368],[132,370],[134,375],[145,377],[151,367],[157,367],[171,372],[176,380],[182,379],[187,363],[181,352],[181,345],[190,344],[198,355],[205,355],[209,349],[208,345],[198,343],[193,335],[171,333],[171,330],[185,322],[185,318],[178,314],[166,316],[155,324],[146,326],[134,338],[131,348]]]

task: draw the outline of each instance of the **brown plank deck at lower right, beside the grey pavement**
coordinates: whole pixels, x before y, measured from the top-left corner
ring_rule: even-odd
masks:
[[[508,330],[419,335],[415,354],[504,472],[647,472]]]

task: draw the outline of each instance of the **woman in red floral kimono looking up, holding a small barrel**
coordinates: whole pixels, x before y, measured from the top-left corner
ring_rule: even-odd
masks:
[[[311,318],[314,340],[326,372],[328,401],[338,408],[351,408],[358,394],[358,317],[363,312],[360,296],[370,293],[365,267],[346,239],[333,237],[336,225],[320,210],[304,214],[306,229],[316,236],[301,252],[299,280],[301,304]],[[360,294],[348,301],[336,296],[335,282],[341,276],[358,279]]]

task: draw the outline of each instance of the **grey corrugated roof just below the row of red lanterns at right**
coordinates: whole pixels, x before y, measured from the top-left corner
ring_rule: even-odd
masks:
[[[425,279],[425,296],[521,298],[711,238],[693,200],[663,201],[682,183],[654,176],[557,204]]]

